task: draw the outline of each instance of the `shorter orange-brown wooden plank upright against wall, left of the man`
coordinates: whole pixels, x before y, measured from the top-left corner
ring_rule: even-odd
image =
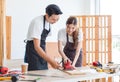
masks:
[[[11,16],[6,16],[6,59],[11,59]]]

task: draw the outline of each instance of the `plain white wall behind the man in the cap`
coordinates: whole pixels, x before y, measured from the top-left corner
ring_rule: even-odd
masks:
[[[52,27],[52,36],[47,38],[49,42],[57,41],[57,32],[65,27],[65,21],[70,15],[90,14],[90,0],[6,0],[6,15],[12,16],[12,59],[24,57],[25,43],[28,25],[34,17],[45,14],[48,4],[60,6],[63,14],[60,20]]]

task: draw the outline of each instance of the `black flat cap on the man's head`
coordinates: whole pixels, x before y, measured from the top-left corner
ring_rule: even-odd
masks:
[[[62,14],[62,11],[61,11],[61,9],[60,9],[57,5],[55,5],[55,4],[50,4],[50,5],[48,5],[48,6],[46,7],[46,13],[47,13],[49,16],[51,16],[52,14],[56,14],[56,15]]]

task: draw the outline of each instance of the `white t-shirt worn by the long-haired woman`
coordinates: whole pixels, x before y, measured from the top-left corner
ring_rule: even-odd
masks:
[[[62,28],[58,32],[58,41],[62,41],[62,45],[65,46],[67,42],[67,36],[66,36],[66,28]],[[73,42],[73,37],[68,35],[68,40],[69,42]],[[79,29],[79,34],[78,34],[78,42],[83,40],[83,33],[82,30]]]

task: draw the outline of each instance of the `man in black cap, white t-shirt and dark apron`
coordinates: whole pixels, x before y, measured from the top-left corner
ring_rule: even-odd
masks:
[[[48,69],[48,63],[55,69],[60,65],[45,52],[46,37],[51,32],[51,25],[59,20],[62,11],[55,4],[46,7],[46,14],[32,20],[27,34],[25,62],[28,70]]]

